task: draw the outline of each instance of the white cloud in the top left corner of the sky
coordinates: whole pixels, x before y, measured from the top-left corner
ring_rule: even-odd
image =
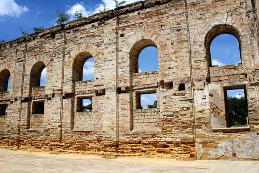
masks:
[[[19,17],[26,11],[29,11],[26,6],[18,5],[14,0],[0,0],[0,16]]]

